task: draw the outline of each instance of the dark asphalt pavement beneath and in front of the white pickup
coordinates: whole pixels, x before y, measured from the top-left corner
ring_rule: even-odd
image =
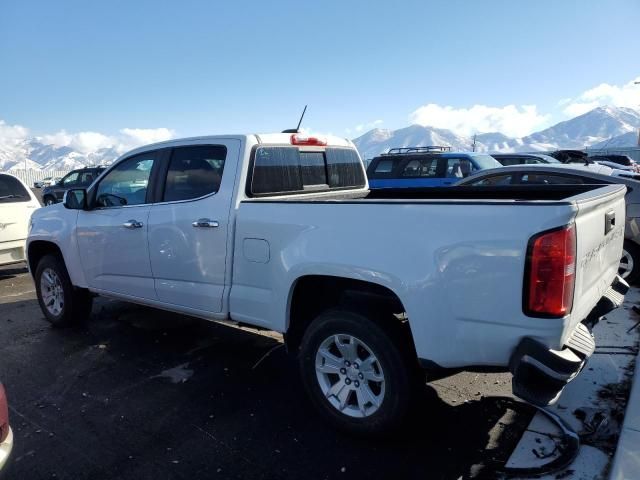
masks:
[[[396,435],[352,438],[316,415],[279,335],[104,298],[55,329],[16,268],[0,269],[0,380],[15,479],[493,478],[533,416],[493,397],[508,374],[461,373],[425,385]]]

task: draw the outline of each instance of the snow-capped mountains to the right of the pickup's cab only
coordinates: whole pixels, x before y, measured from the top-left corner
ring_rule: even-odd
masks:
[[[602,146],[636,146],[640,128],[640,112],[623,107],[598,107],[583,115],[560,122],[522,138],[511,138],[500,132],[476,136],[476,151],[527,152],[582,149]],[[354,140],[363,158],[369,159],[393,147],[424,145],[451,146],[454,150],[469,150],[473,138],[456,135],[445,129],[412,125],[400,130],[371,130]]]

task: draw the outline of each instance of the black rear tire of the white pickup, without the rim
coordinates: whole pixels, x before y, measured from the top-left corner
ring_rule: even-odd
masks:
[[[381,367],[384,393],[377,393],[382,399],[377,410],[370,415],[358,418],[345,414],[323,393],[323,387],[316,374],[316,354],[323,342],[337,334],[357,337],[364,342]],[[311,323],[302,339],[299,353],[302,383],[313,405],[334,427],[355,435],[389,433],[400,427],[407,417],[418,377],[415,375],[417,362],[403,353],[409,350],[412,349],[406,348],[399,329],[392,328],[385,322],[346,309],[327,310]],[[332,378],[335,378],[337,383],[346,376],[338,378],[337,374],[332,374]],[[356,383],[355,377],[350,382],[352,383],[349,388],[353,388]],[[356,392],[349,394],[348,398],[352,402],[358,402]],[[334,401],[338,401],[337,396]]]

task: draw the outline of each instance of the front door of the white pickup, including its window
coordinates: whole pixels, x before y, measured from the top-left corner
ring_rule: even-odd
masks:
[[[155,300],[147,187],[158,155],[152,151],[119,162],[94,187],[92,209],[78,212],[78,249],[91,288]]]

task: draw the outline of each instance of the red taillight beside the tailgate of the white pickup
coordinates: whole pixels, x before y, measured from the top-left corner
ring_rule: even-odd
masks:
[[[576,229],[569,225],[529,240],[524,310],[533,317],[571,312],[576,278]]]

